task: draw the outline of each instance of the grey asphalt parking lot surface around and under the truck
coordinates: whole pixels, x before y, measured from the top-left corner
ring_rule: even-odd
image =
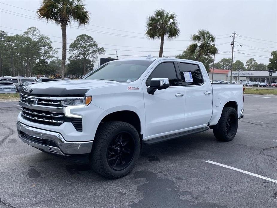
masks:
[[[231,142],[212,130],[145,146],[126,177],[108,180],[88,165],[20,141],[17,102],[0,103],[0,207],[277,207],[277,96],[245,95]]]

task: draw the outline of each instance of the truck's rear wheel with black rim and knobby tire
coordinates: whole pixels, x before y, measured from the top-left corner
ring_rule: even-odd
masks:
[[[213,129],[214,136],[220,141],[232,141],[237,133],[237,126],[237,111],[231,107],[224,107],[218,128]]]

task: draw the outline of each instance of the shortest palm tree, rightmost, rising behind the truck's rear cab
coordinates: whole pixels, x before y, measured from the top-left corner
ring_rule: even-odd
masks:
[[[198,30],[197,34],[191,36],[192,44],[189,45],[188,51],[192,55],[197,53],[196,61],[204,55],[215,55],[218,50],[214,44],[215,37],[208,30]]]

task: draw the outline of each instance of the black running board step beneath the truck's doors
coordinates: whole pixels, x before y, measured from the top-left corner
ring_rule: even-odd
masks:
[[[162,142],[162,141],[167,141],[167,140],[179,138],[179,137],[190,135],[190,134],[196,134],[196,133],[204,132],[208,129],[209,129],[209,127],[204,127],[204,128],[200,128],[200,129],[193,129],[193,130],[190,130],[190,131],[179,132],[179,133],[176,133],[176,134],[170,134],[170,135],[166,135],[166,136],[162,136],[162,137],[149,139],[149,140],[144,141],[144,143],[145,144],[156,144],[156,143],[159,143],[159,142]]]

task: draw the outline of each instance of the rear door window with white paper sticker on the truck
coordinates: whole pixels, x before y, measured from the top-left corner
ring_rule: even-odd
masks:
[[[183,86],[201,85],[204,82],[199,65],[178,62]]]

